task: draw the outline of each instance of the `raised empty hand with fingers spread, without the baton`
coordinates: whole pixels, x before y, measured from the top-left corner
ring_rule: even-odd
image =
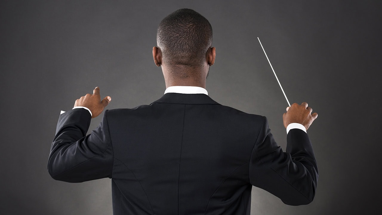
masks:
[[[88,108],[92,112],[92,118],[97,117],[104,111],[105,107],[112,101],[110,96],[106,96],[101,101],[101,96],[99,94],[99,87],[97,86],[93,90],[93,94],[86,94],[81,98],[77,99],[74,103],[74,107],[82,106]]]

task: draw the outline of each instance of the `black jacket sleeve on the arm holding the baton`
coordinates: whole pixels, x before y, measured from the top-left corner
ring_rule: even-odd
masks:
[[[314,199],[317,180],[317,163],[308,135],[301,129],[291,129],[283,152],[264,117],[250,158],[250,183],[287,205],[306,205]]]

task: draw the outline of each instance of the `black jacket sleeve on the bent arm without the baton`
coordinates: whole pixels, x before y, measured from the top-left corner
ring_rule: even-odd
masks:
[[[48,160],[53,179],[83,182],[112,177],[113,149],[107,111],[99,126],[86,135],[90,121],[89,111],[83,108],[60,115]]]

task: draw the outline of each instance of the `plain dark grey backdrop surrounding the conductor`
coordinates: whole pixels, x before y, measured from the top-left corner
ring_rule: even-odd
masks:
[[[381,20],[376,1],[1,1],[2,214],[111,214],[111,179],[78,184],[47,171],[60,110],[99,86],[107,109],[165,90],[152,60],[163,17],[191,8],[212,24],[209,96],[267,116],[285,149],[287,103],[307,101],[319,166],[316,198],[284,205],[253,187],[252,214],[371,214],[382,201]],[[94,129],[101,117],[92,120]]]

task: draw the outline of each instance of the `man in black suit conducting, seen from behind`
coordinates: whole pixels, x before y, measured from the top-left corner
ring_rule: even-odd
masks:
[[[212,100],[206,91],[215,61],[210,23],[177,10],[157,29],[154,62],[166,90],[150,105],[106,110],[86,136],[91,118],[111,101],[100,89],[60,115],[49,155],[52,178],[112,179],[113,214],[250,214],[257,186],[285,204],[309,204],[318,171],[306,130],[317,114],[307,103],[283,115],[284,153],[263,116]]]

